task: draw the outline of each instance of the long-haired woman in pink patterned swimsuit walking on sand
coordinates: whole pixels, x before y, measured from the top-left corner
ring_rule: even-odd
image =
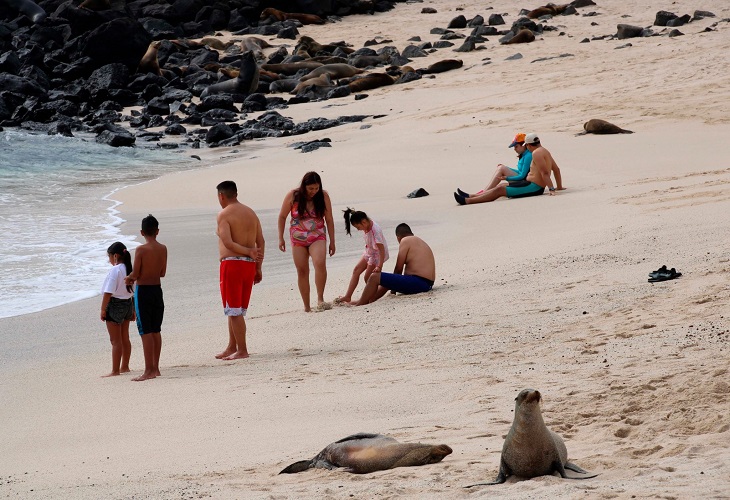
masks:
[[[317,287],[317,307],[327,308],[324,301],[324,287],[327,283],[327,233],[329,233],[329,254],[335,254],[335,231],[332,221],[332,204],[327,191],[322,189],[322,179],[317,172],[307,172],[297,189],[284,197],[279,212],[279,250],[286,251],[284,229],[287,216],[291,216],[289,237],[292,257],[297,268],[299,294],[304,310],[311,310],[309,304],[309,258],[314,264],[314,284]],[[325,229],[326,227],[326,229]]]

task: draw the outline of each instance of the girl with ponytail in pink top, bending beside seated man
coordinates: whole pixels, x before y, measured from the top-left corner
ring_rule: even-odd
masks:
[[[355,264],[352,270],[350,284],[347,292],[341,297],[335,299],[335,304],[349,304],[352,301],[352,294],[357,288],[357,282],[360,281],[360,275],[365,273],[365,283],[370,279],[370,275],[374,272],[379,273],[383,269],[383,263],[388,260],[388,244],[385,242],[383,230],[377,222],[371,220],[365,212],[347,208],[343,210],[345,213],[345,231],[348,236],[350,234],[350,225],[355,229],[362,231],[365,238],[365,252],[363,252],[360,260]]]

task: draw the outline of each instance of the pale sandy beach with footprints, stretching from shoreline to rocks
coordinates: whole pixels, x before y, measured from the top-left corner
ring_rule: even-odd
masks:
[[[421,14],[427,6],[438,13]],[[696,9],[717,17],[682,26],[684,36],[580,43],[619,23],[648,27],[660,10]],[[382,37],[403,50],[416,35],[438,40],[429,31],[459,14],[506,14],[509,27],[518,12],[504,0],[398,4],[300,32],[355,48]],[[0,319],[0,496],[730,497],[730,5],[599,0],[578,12],[548,21],[558,29],[531,44],[488,37],[484,50],[414,60],[464,61],[434,78],[280,110],[295,121],[370,116],[361,123],[191,152],[204,167],[116,193],[121,230],[137,234],[152,213],[169,248],[162,376],[130,382],[144,366],[132,328],[132,374],[100,378],[110,358],[100,297]],[[576,135],[591,118],[635,133]],[[497,163],[514,166],[507,146],[520,131],[539,134],[567,189],[457,206],[457,187],[476,191]],[[324,137],[331,148],[289,147]],[[344,232],[348,206],[382,226],[386,270],[397,224],[427,241],[433,291],[304,313],[276,220],[309,170],[335,212],[327,300],[344,293],[363,248]],[[227,179],[266,239],[247,316],[251,357],[239,361],[214,358],[227,339],[215,234],[215,186]],[[406,198],[419,187],[430,195]],[[683,276],[648,283],[663,264]],[[599,476],[464,489],[496,477],[527,387],[542,393],[571,461]],[[357,432],[454,451],[367,475],[277,475]]]

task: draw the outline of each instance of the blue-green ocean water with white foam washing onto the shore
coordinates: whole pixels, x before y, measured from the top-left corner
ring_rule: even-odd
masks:
[[[189,152],[0,132],[0,318],[98,295],[109,245],[139,244],[119,231],[114,192],[199,165]]]

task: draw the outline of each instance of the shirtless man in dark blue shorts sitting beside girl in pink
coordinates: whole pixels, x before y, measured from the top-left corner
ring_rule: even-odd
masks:
[[[375,302],[388,290],[392,293],[414,294],[427,292],[436,279],[436,261],[431,247],[413,231],[408,224],[398,224],[395,228],[398,239],[398,260],[391,273],[372,273],[356,306]],[[405,269],[404,269],[405,268]]]

